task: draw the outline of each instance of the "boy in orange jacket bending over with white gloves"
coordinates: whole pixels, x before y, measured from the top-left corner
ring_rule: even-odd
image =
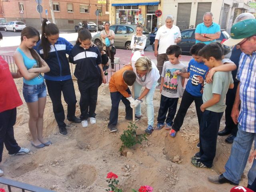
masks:
[[[136,75],[133,72],[132,66],[125,66],[118,70],[109,81],[109,90],[111,98],[111,110],[109,115],[108,129],[110,132],[117,131],[116,124],[118,120],[118,106],[120,100],[125,105],[126,120],[132,120],[132,108],[130,103],[134,102],[132,94],[128,86],[132,86],[136,80]]]

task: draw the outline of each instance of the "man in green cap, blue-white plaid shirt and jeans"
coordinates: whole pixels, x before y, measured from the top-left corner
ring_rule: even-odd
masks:
[[[254,149],[256,149],[256,20],[247,19],[234,24],[231,28],[231,38],[226,40],[224,45],[235,45],[243,52],[237,72],[237,79],[240,83],[231,113],[234,123],[238,123],[238,132],[225,165],[226,171],[221,175],[208,176],[208,180],[218,184],[228,182],[238,185],[253,141]],[[248,187],[255,178],[256,160],[254,159],[248,172]]]

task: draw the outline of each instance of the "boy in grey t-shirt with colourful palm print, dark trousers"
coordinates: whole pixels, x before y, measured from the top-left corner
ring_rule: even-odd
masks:
[[[174,74],[176,70],[186,73],[186,67],[179,59],[181,57],[181,48],[178,45],[171,45],[167,48],[166,54],[169,61],[164,62],[161,78],[161,100],[158,111],[156,129],[164,127],[166,120],[166,129],[170,130],[173,124],[173,118],[176,113],[178,99],[183,95],[184,78]],[[168,112],[167,118],[166,114]]]

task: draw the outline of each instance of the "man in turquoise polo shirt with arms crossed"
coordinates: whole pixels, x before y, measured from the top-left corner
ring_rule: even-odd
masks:
[[[212,22],[212,13],[204,14],[204,22],[196,26],[195,38],[196,43],[210,44],[220,38],[220,25]]]

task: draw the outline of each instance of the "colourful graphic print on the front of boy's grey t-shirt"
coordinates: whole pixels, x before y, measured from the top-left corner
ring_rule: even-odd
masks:
[[[163,85],[163,90],[169,93],[176,94],[177,93],[177,88],[178,88],[178,76],[174,75],[174,71],[179,70],[180,72],[182,71],[181,69],[166,69],[165,76],[164,76],[164,85]]]

